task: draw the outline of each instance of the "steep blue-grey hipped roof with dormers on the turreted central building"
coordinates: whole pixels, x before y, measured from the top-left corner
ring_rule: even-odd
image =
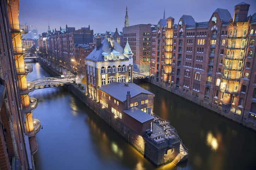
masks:
[[[85,57],[86,60],[95,61],[95,62],[103,62],[105,61],[102,52],[108,53],[108,61],[113,60],[111,52],[114,50],[120,53],[119,60],[128,60],[127,57],[123,55],[124,49],[116,42],[110,43],[108,42],[107,38],[104,38],[101,42],[99,49],[96,48],[87,56]]]

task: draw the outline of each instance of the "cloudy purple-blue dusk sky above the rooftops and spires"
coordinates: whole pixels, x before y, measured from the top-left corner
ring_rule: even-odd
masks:
[[[50,29],[59,30],[60,26],[88,27],[94,33],[106,30],[122,31],[125,8],[128,7],[129,25],[157,24],[165,16],[175,18],[178,23],[183,15],[192,15],[197,22],[208,21],[216,8],[227,9],[233,17],[234,6],[241,0],[20,0],[20,23],[37,26],[38,33]],[[250,4],[249,14],[256,12],[256,1]],[[248,14],[248,15],[249,15]],[[31,28],[32,29],[32,28]]]

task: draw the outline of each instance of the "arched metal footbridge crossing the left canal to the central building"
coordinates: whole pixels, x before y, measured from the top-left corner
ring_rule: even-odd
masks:
[[[35,89],[42,89],[47,87],[58,87],[69,84],[73,80],[73,75],[69,76],[59,76],[59,77],[42,77],[36,80],[33,80]],[[30,83],[31,84],[31,83]]]

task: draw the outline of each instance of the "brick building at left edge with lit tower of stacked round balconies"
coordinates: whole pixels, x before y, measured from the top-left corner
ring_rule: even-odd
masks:
[[[19,24],[19,1],[1,1],[0,5],[0,169],[34,169],[35,135],[41,124],[32,117],[37,99],[29,93],[35,84],[26,81],[33,68],[23,59],[30,49],[21,40],[28,26]]]

